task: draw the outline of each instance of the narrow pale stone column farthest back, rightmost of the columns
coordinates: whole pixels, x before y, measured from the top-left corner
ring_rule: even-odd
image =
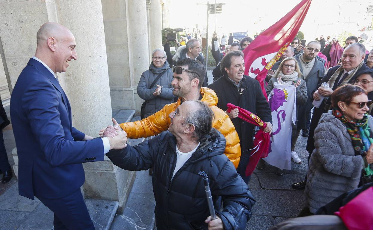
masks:
[[[149,8],[150,53],[162,48],[162,6],[160,0],[150,0]]]

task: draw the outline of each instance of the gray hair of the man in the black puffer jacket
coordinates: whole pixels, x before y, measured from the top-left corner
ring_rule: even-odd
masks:
[[[203,136],[210,133],[215,116],[211,108],[202,101],[193,100],[193,102],[195,110],[191,111],[186,119],[195,127],[192,137],[200,141]]]

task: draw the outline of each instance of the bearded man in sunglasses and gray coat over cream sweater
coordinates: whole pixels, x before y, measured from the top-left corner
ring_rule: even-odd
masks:
[[[317,59],[317,54],[321,48],[320,42],[310,41],[307,46],[303,48],[303,53],[295,56],[300,70],[302,72],[302,78],[307,85],[307,103],[300,105],[298,110],[298,126],[297,133],[303,129],[303,136],[308,136],[308,129],[310,127],[311,120],[311,109],[312,105],[312,92],[317,88],[317,85],[324,76],[325,67],[324,63]],[[304,189],[305,180],[303,182],[294,183],[292,185],[295,189]]]

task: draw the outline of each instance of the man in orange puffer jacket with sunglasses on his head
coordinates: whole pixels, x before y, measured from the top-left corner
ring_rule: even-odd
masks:
[[[171,85],[173,86],[173,95],[179,97],[177,102],[165,105],[155,114],[136,122],[118,124],[113,119],[113,125],[119,125],[125,130],[128,138],[136,139],[154,136],[169,128],[171,124],[169,114],[173,113],[181,103],[190,100],[203,101],[209,105],[214,112],[212,126],[219,130],[226,139],[225,155],[233,162],[234,166],[237,167],[241,156],[239,138],[228,115],[223,110],[216,107],[217,96],[215,92],[209,88],[201,87],[205,78],[205,68],[203,64],[198,60],[189,58],[183,59],[177,66],[172,66],[172,72],[173,80]],[[117,132],[115,132],[113,126],[108,126],[107,128],[101,129],[99,134],[102,136],[106,133],[115,135]]]

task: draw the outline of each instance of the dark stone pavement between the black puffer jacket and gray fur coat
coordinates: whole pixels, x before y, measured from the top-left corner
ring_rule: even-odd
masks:
[[[304,190],[295,190],[292,183],[301,182],[307,173],[307,138],[298,138],[295,152],[301,164],[291,162],[291,170],[282,176],[275,174],[275,167],[266,164],[263,170],[256,169],[251,176],[249,189],[256,199],[253,216],[246,225],[247,230],[264,230],[284,220],[297,217],[304,207]]]

